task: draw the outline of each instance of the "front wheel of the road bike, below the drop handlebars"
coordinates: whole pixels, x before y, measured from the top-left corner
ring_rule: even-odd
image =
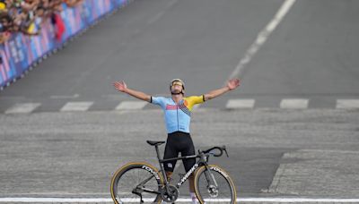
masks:
[[[195,192],[201,204],[236,203],[237,199],[231,177],[221,167],[215,165],[202,166],[198,169],[195,175]]]

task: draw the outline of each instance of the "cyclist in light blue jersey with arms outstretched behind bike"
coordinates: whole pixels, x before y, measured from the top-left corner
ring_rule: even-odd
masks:
[[[162,107],[164,111],[166,129],[168,132],[163,158],[179,157],[179,153],[181,156],[195,155],[195,147],[189,134],[189,123],[193,106],[221,96],[232,89],[236,89],[239,85],[239,79],[232,79],[221,89],[212,90],[201,96],[185,97],[184,82],[180,79],[174,79],[170,83],[171,98],[164,98],[153,97],[141,91],[128,89],[125,81],[115,81],[113,83],[113,86],[118,91]],[[188,172],[190,168],[195,165],[195,163],[195,158],[184,159],[183,165],[185,166],[186,172]],[[166,171],[166,175],[169,179],[171,178],[175,165],[176,160],[163,164],[164,170]],[[192,203],[197,203],[196,194],[194,192],[193,174],[191,174],[188,179],[189,193]]]

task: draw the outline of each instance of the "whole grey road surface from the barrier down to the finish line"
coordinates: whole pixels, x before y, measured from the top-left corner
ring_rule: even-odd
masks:
[[[154,161],[146,139],[165,139],[155,106],[114,109],[132,100],[111,87],[168,95],[173,78],[187,95],[223,86],[284,1],[136,0],[20,81],[0,92],[0,197],[109,197],[109,178],[127,161]],[[227,144],[240,197],[357,198],[359,2],[296,1],[243,67],[241,87],[194,114],[196,146]],[[227,110],[230,99],[253,108]],[[280,107],[305,98],[304,109]],[[61,112],[68,102],[93,103]],[[30,114],[6,114],[39,103]],[[19,184],[21,183],[21,184]]]

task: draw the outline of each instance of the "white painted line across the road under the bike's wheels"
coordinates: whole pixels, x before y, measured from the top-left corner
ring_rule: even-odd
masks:
[[[138,199],[125,199],[124,202],[138,203]],[[144,201],[151,201],[146,200]],[[190,202],[190,199],[178,199],[176,202]],[[214,201],[214,200],[208,200]],[[228,200],[215,200],[216,202],[227,202]],[[307,198],[237,198],[238,202],[262,202],[262,203],[274,203],[274,202],[291,202],[291,203],[359,203],[359,199],[307,199]],[[105,198],[0,198],[0,202],[8,203],[33,203],[33,202],[60,202],[60,203],[99,203],[99,202],[112,202],[112,199]]]

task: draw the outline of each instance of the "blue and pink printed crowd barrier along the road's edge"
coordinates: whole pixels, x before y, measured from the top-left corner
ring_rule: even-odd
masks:
[[[23,76],[34,64],[38,64],[49,53],[63,47],[66,41],[82,30],[87,29],[105,14],[128,4],[131,0],[85,0],[73,8],[66,7],[60,13],[65,30],[60,38],[51,19],[41,22],[39,36],[26,36],[22,33],[0,45],[0,89],[11,81]]]

